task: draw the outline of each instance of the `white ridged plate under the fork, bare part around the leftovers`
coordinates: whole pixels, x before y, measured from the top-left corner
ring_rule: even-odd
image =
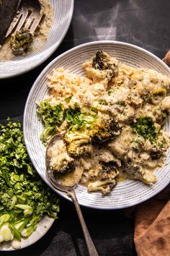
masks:
[[[14,77],[40,65],[53,54],[63,40],[73,15],[73,0],[48,0],[53,7],[53,25],[48,39],[36,45],[27,56],[14,56],[11,61],[0,60],[0,79]]]

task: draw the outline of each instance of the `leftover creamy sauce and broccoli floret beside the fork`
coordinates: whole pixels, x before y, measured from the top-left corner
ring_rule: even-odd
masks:
[[[12,33],[6,38],[0,48],[0,60],[9,61],[15,56],[26,56],[32,51],[37,51],[40,45],[47,40],[50,27],[53,23],[53,7],[48,0],[40,0],[41,11],[44,15],[35,33],[30,33],[29,29],[22,28]]]

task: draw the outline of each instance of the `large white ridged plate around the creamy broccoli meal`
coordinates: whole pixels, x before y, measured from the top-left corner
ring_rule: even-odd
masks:
[[[40,141],[40,132],[42,124],[37,119],[35,102],[40,102],[47,95],[47,74],[50,74],[53,69],[64,67],[76,74],[84,75],[84,69],[81,64],[91,58],[97,51],[106,51],[109,55],[114,56],[120,61],[129,64],[132,67],[144,67],[155,69],[162,74],[169,75],[170,69],[166,67],[163,61],[158,59],[153,54],[133,46],[128,43],[116,41],[97,41],[85,43],[81,46],[72,48],[70,51],[58,56],[42,71],[37,77],[30,94],[27,98],[27,103],[24,108],[24,140],[27,151],[30,155],[38,174],[50,186],[48,179],[45,176],[45,147]],[[166,131],[170,132],[169,120],[166,123]],[[148,198],[153,197],[160,192],[170,181],[169,165],[170,152],[166,157],[166,165],[156,171],[158,181],[153,186],[148,186],[142,182],[130,181],[120,182],[115,189],[107,195],[103,196],[99,192],[88,193],[86,188],[78,185],[76,187],[76,195],[81,205],[100,208],[100,209],[118,209],[136,205]],[[55,189],[54,189],[55,190]],[[55,190],[58,192],[57,190]],[[68,198],[63,192],[58,192],[63,197]]]

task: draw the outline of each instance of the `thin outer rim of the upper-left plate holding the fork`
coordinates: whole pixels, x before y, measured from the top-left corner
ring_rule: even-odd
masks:
[[[32,69],[35,69],[36,67],[39,67],[40,64],[44,63],[53,53],[54,51],[57,50],[57,48],[61,45],[62,41],[63,41],[63,38],[66,36],[66,33],[68,32],[68,29],[71,25],[71,20],[72,20],[72,17],[73,17],[73,9],[74,9],[74,0],[70,0],[71,1],[71,8],[69,10],[69,15],[68,15],[68,21],[67,21],[67,24],[66,24],[66,28],[63,32],[63,35],[61,36],[60,40],[58,40],[55,44],[53,44],[53,46],[50,46],[50,48],[52,48],[52,50],[50,51],[50,54],[47,54],[44,58],[41,58],[40,59],[40,62],[38,62],[37,64],[33,65],[27,65],[27,69],[24,69],[22,70],[22,72],[17,72],[15,74],[9,74],[9,75],[4,75],[0,73],[0,80],[5,80],[5,79],[8,79],[8,78],[12,78],[12,77],[17,77],[19,75],[22,75],[22,74],[25,74],[27,72],[30,72]],[[49,50],[50,48],[46,49],[46,50]],[[37,57],[42,54],[42,52],[38,53],[37,54]],[[31,57],[32,58],[32,57]],[[3,64],[3,62],[6,62],[6,61],[0,61],[0,63]]]

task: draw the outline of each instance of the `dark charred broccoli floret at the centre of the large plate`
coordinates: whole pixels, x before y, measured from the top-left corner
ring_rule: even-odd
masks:
[[[115,119],[99,119],[94,123],[90,136],[92,142],[103,143],[120,135],[121,128]]]

